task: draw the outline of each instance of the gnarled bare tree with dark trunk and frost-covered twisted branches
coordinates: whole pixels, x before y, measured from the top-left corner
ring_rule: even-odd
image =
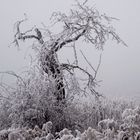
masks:
[[[69,15],[61,12],[54,12],[52,14],[51,20],[53,20],[54,26],[58,24],[62,25],[62,30],[58,34],[53,34],[45,25],[43,25],[43,30],[33,27],[30,30],[22,32],[20,26],[27,18],[20,20],[15,24],[16,34],[13,43],[19,46],[19,41],[26,41],[27,39],[34,39],[37,41],[39,48],[39,63],[44,73],[55,81],[56,90],[54,95],[58,102],[64,101],[66,98],[64,70],[68,71],[70,74],[73,74],[75,69],[85,73],[88,76],[88,80],[87,86],[84,89],[86,90],[88,88],[96,97],[101,96],[95,90],[97,84],[96,76],[101,63],[101,58],[97,68],[94,68],[83,55],[94,71],[94,75],[92,75],[78,65],[76,49],[74,49],[75,64],[60,63],[57,57],[59,50],[63,49],[63,47],[68,44],[73,45],[75,48],[77,47],[74,45],[75,42],[81,39],[87,43],[93,44],[97,49],[103,49],[103,46],[109,37],[112,37],[117,43],[126,45],[116,34],[114,28],[109,24],[114,18],[108,17],[105,14],[101,15],[95,8],[87,6],[87,1],[83,4],[77,1],[75,6],[76,9],[71,9]]]

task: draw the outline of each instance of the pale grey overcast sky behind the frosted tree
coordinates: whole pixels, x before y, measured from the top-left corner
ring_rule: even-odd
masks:
[[[0,71],[20,71],[27,64],[23,48],[21,51],[8,48],[13,39],[13,25],[23,18],[24,13],[31,25],[40,25],[41,22],[47,25],[53,11],[68,11],[73,3],[74,0],[0,0]],[[140,98],[139,0],[89,0],[89,4],[101,13],[120,19],[113,25],[129,46],[107,42],[98,74],[98,79],[103,80],[99,91],[111,97]],[[95,53],[100,52],[91,48],[85,50],[93,65],[94,60],[98,60]]]

